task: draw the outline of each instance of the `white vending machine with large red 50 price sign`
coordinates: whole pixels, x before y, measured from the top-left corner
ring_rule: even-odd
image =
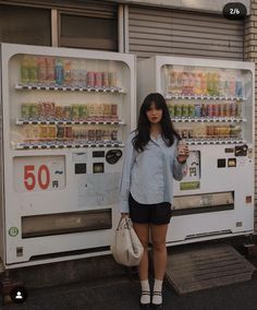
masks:
[[[135,56],[0,48],[3,264],[109,253],[135,127]]]

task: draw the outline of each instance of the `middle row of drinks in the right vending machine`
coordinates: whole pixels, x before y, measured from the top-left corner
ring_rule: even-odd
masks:
[[[242,103],[172,104],[168,103],[171,118],[174,117],[241,117]]]

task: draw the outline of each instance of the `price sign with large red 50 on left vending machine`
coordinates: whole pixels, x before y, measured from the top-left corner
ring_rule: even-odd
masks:
[[[64,156],[14,157],[13,160],[15,191],[49,191],[65,187]]]

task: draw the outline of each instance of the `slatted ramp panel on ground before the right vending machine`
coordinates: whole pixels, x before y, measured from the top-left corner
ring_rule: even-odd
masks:
[[[197,245],[168,257],[166,278],[178,294],[249,281],[255,271],[229,245]]]

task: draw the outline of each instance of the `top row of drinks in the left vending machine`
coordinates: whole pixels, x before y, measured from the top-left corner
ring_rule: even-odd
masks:
[[[117,88],[118,73],[115,71],[88,71],[84,60],[24,56],[21,61],[21,82],[23,84]]]

